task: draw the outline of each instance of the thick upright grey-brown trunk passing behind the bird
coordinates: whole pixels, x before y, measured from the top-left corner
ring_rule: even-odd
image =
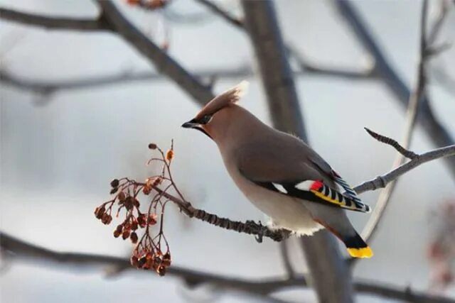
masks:
[[[275,128],[306,141],[303,117],[271,1],[242,1],[245,25],[255,49]],[[306,264],[320,302],[353,302],[350,272],[332,236],[319,231],[302,237]]]

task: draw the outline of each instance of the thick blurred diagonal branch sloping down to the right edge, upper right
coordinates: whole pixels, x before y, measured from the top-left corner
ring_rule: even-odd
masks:
[[[363,44],[365,50],[375,58],[376,72],[378,76],[387,84],[390,91],[395,94],[397,101],[404,108],[407,108],[410,99],[410,89],[407,87],[403,79],[398,75],[392,64],[387,60],[385,53],[381,50],[378,43],[373,38],[373,34],[368,29],[367,23],[361,18],[360,13],[355,9],[351,1],[336,0],[336,6],[345,18],[353,33],[357,36],[360,43]],[[427,132],[429,139],[436,146],[447,146],[455,143],[453,136],[439,122],[434,115],[432,108],[429,106],[427,96],[422,100],[422,107],[419,109],[419,123],[422,124]],[[455,158],[446,158],[451,175],[455,177]]]

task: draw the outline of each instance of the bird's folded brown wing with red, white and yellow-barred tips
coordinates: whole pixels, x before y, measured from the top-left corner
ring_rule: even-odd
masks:
[[[363,204],[360,199],[353,199],[335,189],[336,180],[330,174],[321,172],[321,168],[315,167],[311,159],[307,158],[311,153],[304,150],[306,145],[289,144],[284,141],[282,146],[260,149],[254,147],[264,147],[264,144],[267,143],[250,145],[240,150],[238,169],[251,182],[274,192],[310,202],[352,211],[370,211],[370,207]],[[302,148],[303,150],[300,150]],[[312,150],[311,152],[314,153]],[[325,169],[327,167],[330,166],[326,164]]]

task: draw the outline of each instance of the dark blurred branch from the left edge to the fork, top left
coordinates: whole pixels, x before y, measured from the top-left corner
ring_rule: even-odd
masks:
[[[110,28],[102,18],[58,18],[45,17],[33,13],[22,13],[12,9],[0,8],[0,18],[29,26],[38,26],[47,29],[77,30],[77,31],[109,31]]]

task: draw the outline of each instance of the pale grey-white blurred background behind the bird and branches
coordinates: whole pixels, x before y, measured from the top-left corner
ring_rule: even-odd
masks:
[[[171,0],[162,9],[135,1],[114,1],[121,13],[200,81],[222,92],[242,79],[250,88],[242,106],[270,123],[266,96],[247,33],[232,26],[200,1]],[[405,108],[384,79],[370,77],[375,57],[365,50],[339,1],[276,1],[274,6],[311,146],[350,184],[382,175],[395,150],[373,140],[364,126],[399,140]],[[242,18],[237,1],[213,1]],[[422,2],[350,1],[368,26],[380,51],[407,87],[413,87],[419,62]],[[95,19],[94,1],[1,0],[2,9],[42,16]],[[455,38],[453,1],[430,1],[428,24],[445,8],[436,45]],[[0,14],[1,231],[58,252],[129,258],[134,246],[112,237],[115,225],[93,216],[109,199],[114,177],[144,180],[150,142],[168,148],[173,138],[173,175],[188,201],[233,220],[262,220],[230,180],[216,145],[181,128],[200,104],[125,40],[105,31],[58,31],[27,26]],[[297,55],[296,55],[297,54]],[[455,49],[427,62],[427,95],[439,123],[455,137]],[[299,58],[329,71],[302,69]],[[146,75],[137,77],[136,75]],[[100,79],[112,79],[105,81]],[[11,79],[14,78],[14,81]],[[117,79],[116,78],[116,79]],[[18,81],[16,81],[18,80]],[[33,85],[31,85],[33,84]],[[55,84],[54,86],[49,84]],[[73,85],[72,85],[73,84]],[[410,149],[434,145],[417,123]],[[453,143],[452,143],[453,144]],[[444,277],[429,258],[440,228],[438,210],[455,202],[454,167],[435,160],[397,182],[378,232],[370,245],[375,256],[361,260],[353,280],[394,285],[455,298],[450,275],[455,259],[444,263]],[[379,191],[361,195],[375,205]],[[440,211],[439,211],[440,212]],[[453,214],[453,213],[451,213]],[[368,214],[349,214],[358,231]],[[175,206],[166,211],[166,236],[173,265],[232,278],[285,277],[279,244],[188,219]],[[453,216],[449,216],[451,221]],[[114,219],[115,220],[115,219]],[[438,224],[436,224],[438,225]],[[450,231],[455,234],[454,231]],[[289,241],[291,264],[307,272],[299,241]],[[345,254],[344,248],[341,249]],[[66,265],[2,253],[1,302],[267,302],[210,283],[190,287],[174,275],[116,270],[108,265]],[[439,264],[439,263],[438,263]],[[450,268],[451,266],[451,268]],[[437,284],[437,287],[434,285]],[[442,286],[441,286],[442,285]],[[316,302],[311,289],[294,287],[272,297],[286,302]],[[358,302],[395,302],[365,292]]]

